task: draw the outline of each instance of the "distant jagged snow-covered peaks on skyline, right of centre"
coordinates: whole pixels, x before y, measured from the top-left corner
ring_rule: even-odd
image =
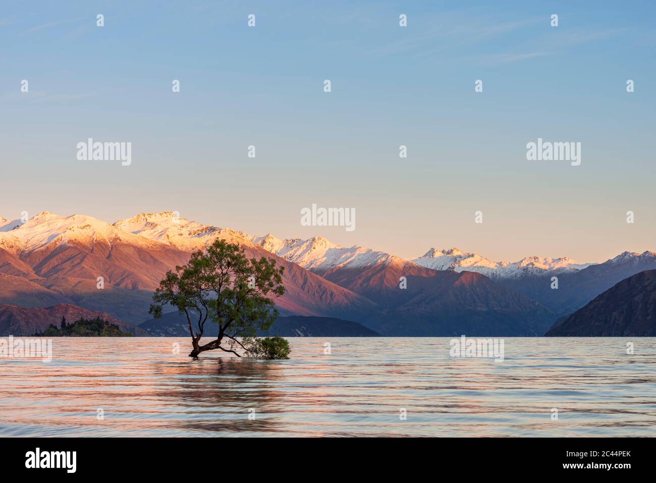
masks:
[[[550,259],[543,257],[525,257],[514,263],[493,262],[477,253],[467,253],[457,248],[436,250],[431,248],[413,262],[433,270],[455,270],[456,272],[478,272],[490,278],[518,278],[526,275],[541,275],[550,272],[567,272],[583,270],[590,263],[578,263],[562,257]]]

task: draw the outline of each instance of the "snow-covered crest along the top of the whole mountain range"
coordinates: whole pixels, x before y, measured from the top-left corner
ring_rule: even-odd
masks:
[[[42,211],[26,222],[7,221],[4,217],[0,217],[0,246],[16,253],[39,249],[51,243],[81,242],[91,245],[97,241],[104,241],[112,245],[116,240],[145,247],[152,247],[153,242],[165,243],[183,251],[194,251],[203,249],[216,239],[262,247],[270,253],[318,274],[325,274],[337,268],[363,268],[375,264],[409,262],[390,253],[366,247],[357,245],[342,247],[323,236],[314,236],[308,240],[281,239],[273,234],[251,236],[230,228],[218,228],[190,221],[180,217],[176,211],[139,213],[114,224],[85,215],[64,217],[48,211]],[[656,253],[625,251],[605,263],[642,261],[656,261]],[[577,271],[590,265],[579,264],[569,257],[552,259],[537,255],[525,257],[514,263],[495,262],[457,247],[441,250],[431,248],[411,262],[433,270],[478,272],[491,278],[517,278],[525,275]]]

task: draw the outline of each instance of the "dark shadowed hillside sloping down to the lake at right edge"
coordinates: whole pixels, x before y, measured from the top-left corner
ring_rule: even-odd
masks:
[[[656,270],[622,280],[557,322],[552,337],[656,336]]]

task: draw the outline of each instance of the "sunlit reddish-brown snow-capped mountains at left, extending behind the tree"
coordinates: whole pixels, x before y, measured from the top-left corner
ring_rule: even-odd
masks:
[[[0,232],[0,303],[73,304],[138,324],[150,318],[153,291],[167,270],[216,238],[239,243],[247,257],[272,257],[245,234],[176,219],[173,213],[142,214],[113,225],[84,215],[39,213]],[[285,267],[285,295],[276,299],[283,314],[354,320],[376,308],[297,264],[276,261]]]

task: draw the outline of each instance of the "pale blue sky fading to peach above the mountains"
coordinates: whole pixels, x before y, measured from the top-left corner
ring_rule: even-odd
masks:
[[[9,3],[0,215],[176,210],[402,257],[656,250],[656,7],[590,5]],[[132,165],[77,161],[89,137],[132,142]],[[527,161],[538,137],[581,142],[581,165]],[[356,230],[300,226],[312,203],[354,207]]]

